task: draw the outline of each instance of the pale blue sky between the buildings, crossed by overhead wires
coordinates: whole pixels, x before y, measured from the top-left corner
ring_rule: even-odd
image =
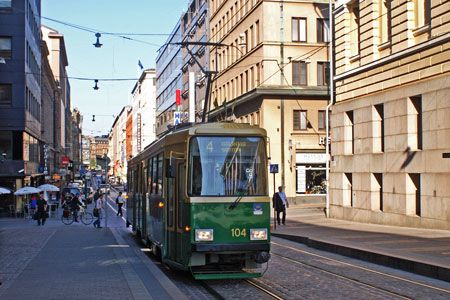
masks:
[[[169,34],[188,1],[185,0],[43,0],[42,16],[88,27],[102,32]],[[70,77],[137,78],[138,60],[144,68],[154,68],[158,47],[119,37],[102,35],[101,48],[95,48],[94,33],[42,19],[42,24],[64,34]],[[162,45],[168,35],[132,36]],[[107,134],[130,100],[136,81],[99,82],[70,80],[72,106],[84,116],[83,132]],[[92,122],[92,115],[96,115]]]

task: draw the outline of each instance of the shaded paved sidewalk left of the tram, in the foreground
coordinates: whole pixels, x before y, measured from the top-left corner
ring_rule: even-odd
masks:
[[[103,229],[0,219],[0,298],[186,299],[113,219]]]

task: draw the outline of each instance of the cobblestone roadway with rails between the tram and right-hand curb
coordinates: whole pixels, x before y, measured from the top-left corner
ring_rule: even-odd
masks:
[[[272,239],[267,273],[253,281],[283,299],[449,299],[450,284]]]

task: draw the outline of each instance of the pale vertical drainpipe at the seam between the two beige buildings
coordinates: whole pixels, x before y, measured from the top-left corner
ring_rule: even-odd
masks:
[[[328,111],[330,110],[331,105],[333,105],[334,102],[334,81],[333,81],[333,71],[334,71],[334,57],[333,57],[333,31],[334,31],[334,22],[333,22],[333,5],[331,0],[329,0],[329,6],[328,6],[328,20],[329,20],[329,26],[330,26],[330,30],[329,30],[329,36],[328,36],[328,40],[329,40],[329,60],[330,60],[330,82],[329,82],[329,86],[330,86],[330,102],[327,105],[327,109],[325,110],[325,122],[326,122],[326,146],[325,146],[325,153],[326,153],[326,180],[327,180],[327,194],[326,194],[326,208],[325,208],[325,213],[327,218],[330,217],[330,182],[329,182],[329,177],[330,177],[330,138],[329,138],[329,134],[330,134],[330,128],[329,128],[329,121],[328,118],[329,113]]]

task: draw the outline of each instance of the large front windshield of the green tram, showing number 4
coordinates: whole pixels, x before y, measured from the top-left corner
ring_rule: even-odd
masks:
[[[194,137],[189,146],[191,196],[266,195],[261,137]]]

